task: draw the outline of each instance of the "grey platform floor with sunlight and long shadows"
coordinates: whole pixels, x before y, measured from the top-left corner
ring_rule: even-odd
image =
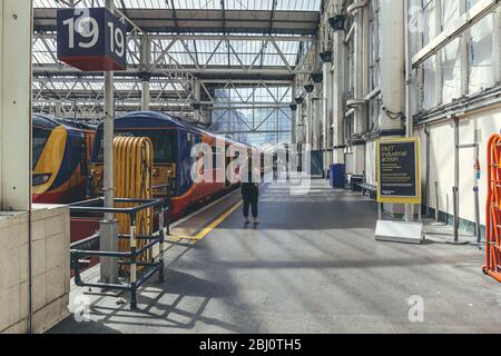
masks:
[[[482,251],[375,243],[376,206],[360,194],[323,180],[297,197],[267,186],[261,221],[246,228],[238,210],[200,243],[174,246],[140,312],[92,297],[91,322],[71,316],[51,333],[501,332],[501,286],[482,274]],[[410,322],[412,296],[423,323]]]

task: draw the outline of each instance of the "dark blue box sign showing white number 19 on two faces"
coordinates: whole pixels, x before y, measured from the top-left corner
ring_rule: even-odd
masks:
[[[82,71],[127,68],[127,27],[108,9],[58,10],[57,30],[60,61]]]

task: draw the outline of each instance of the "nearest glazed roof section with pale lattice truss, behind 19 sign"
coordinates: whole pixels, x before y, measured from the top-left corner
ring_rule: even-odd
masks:
[[[102,7],[104,0],[35,0],[35,72],[69,72],[57,63],[57,9]],[[150,36],[156,71],[190,72],[199,78],[291,79],[318,28],[321,0],[116,0],[116,8]],[[137,41],[129,41],[130,71],[140,65]],[[136,56],[134,56],[136,55]],[[228,71],[230,69],[230,71]],[[257,76],[257,77],[256,77]]]

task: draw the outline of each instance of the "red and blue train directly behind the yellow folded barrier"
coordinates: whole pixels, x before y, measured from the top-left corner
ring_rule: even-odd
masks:
[[[257,150],[250,146],[232,141],[227,138],[218,137],[207,130],[183,120],[159,112],[141,111],[132,112],[117,118],[115,121],[115,135],[149,137],[154,145],[154,189],[156,198],[170,199],[170,215],[176,219],[181,217],[186,210],[195,205],[209,200],[217,194],[230,189],[235,182],[226,180],[225,182],[202,181],[194,182],[191,179],[191,167],[198,160],[191,157],[191,149],[197,144],[206,144],[213,148],[216,155],[216,142],[225,141],[225,149],[229,145],[234,146],[236,151],[247,151],[249,155]],[[99,126],[96,132],[95,150],[91,159],[91,179],[90,187],[95,196],[102,192],[104,178],[104,145],[102,134],[104,125]],[[225,166],[233,158],[225,158]],[[264,160],[264,158],[262,158]],[[218,169],[209,167],[209,174],[216,177]]]

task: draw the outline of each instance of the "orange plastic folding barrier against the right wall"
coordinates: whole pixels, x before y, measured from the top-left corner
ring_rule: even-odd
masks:
[[[485,266],[483,271],[501,283],[501,136],[493,135],[488,146],[488,204]]]

